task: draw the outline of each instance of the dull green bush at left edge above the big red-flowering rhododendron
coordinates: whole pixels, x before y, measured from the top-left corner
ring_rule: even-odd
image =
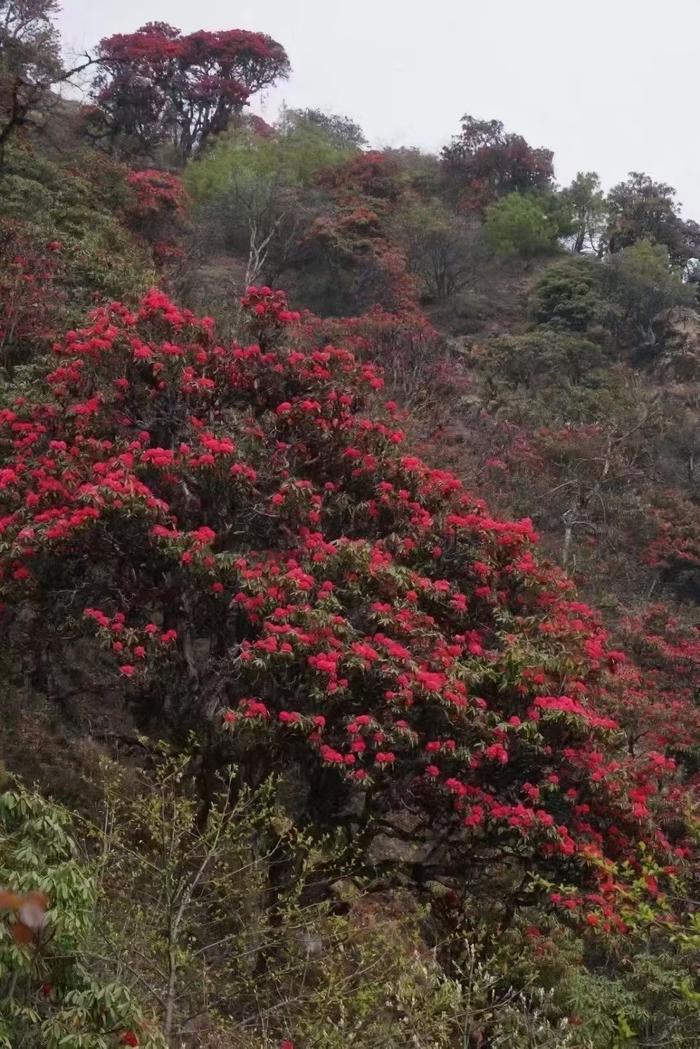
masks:
[[[15,149],[0,172],[3,363],[37,356],[99,299],[133,301],[153,280],[122,221],[126,172],[89,154],[83,170]]]

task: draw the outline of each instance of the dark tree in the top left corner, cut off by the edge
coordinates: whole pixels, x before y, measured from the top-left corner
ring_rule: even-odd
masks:
[[[0,0],[0,150],[63,76],[58,0]]]

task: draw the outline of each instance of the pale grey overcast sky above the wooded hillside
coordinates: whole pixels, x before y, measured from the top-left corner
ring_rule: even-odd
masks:
[[[66,48],[167,21],[269,33],[290,80],[254,105],[354,117],[373,145],[438,150],[469,112],[611,186],[646,171],[700,220],[700,0],[63,0]]]

